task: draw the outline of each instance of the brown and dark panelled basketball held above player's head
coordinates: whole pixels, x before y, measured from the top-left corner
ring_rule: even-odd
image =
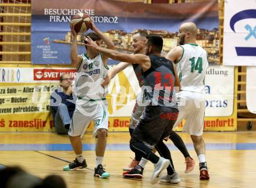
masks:
[[[74,26],[74,31],[76,31],[76,33],[86,32],[91,28],[90,17],[83,13],[72,16],[70,23]]]

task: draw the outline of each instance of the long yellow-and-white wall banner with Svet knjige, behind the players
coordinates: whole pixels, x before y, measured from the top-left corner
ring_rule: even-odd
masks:
[[[54,131],[49,97],[59,86],[59,77],[74,68],[0,66],[0,132]],[[205,78],[207,103],[204,129],[236,130],[234,68],[209,66]],[[133,68],[127,67],[108,86],[109,131],[127,131],[136,95],[140,92]],[[177,130],[182,130],[184,121]],[[93,123],[87,131],[93,131]]]

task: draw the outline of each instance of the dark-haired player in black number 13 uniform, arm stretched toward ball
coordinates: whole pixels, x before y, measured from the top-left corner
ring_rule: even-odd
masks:
[[[143,70],[145,109],[131,135],[130,149],[155,165],[151,177],[151,183],[155,184],[158,182],[159,174],[163,169],[168,167],[168,175],[170,176],[176,173],[170,165],[172,160],[170,151],[162,140],[169,137],[179,113],[175,101],[176,97],[173,95],[174,86],[179,85],[179,79],[175,74],[172,62],[161,57],[163,39],[156,35],[150,35],[147,39],[146,55],[148,56],[139,53],[127,55],[115,50],[101,48],[90,37],[87,38],[88,44],[86,46],[90,46],[114,60],[127,63],[136,62]],[[172,118],[165,118],[167,114],[172,115]],[[165,158],[159,158],[152,152],[157,144],[161,144],[159,154]]]

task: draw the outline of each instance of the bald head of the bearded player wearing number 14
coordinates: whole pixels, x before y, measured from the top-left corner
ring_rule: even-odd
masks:
[[[187,43],[195,43],[195,36],[197,35],[197,26],[193,22],[183,23],[179,29],[180,45]]]

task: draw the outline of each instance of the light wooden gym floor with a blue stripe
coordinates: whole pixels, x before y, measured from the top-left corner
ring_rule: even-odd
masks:
[[[153,165],[149,162],[142,180],[122,178],[122,167],[133,157],[129,150],[129,133],[109,133],[104,164],[111,173],[109,179],[93,177],[95,165],[94,143],[91,133],[83,137],[84,156],[88,168],[79,171],[62,171],[65,161],[73,161],[74,153],[67,135],[55,133],[0,133],[1,165],[19,165],[33,175],[44,178],[50,174],[61,175],[68,187],[255,187],[256,185],[256,132],[205,132],[207,148],[208,181],[198,179],[198,158],[190,137],[179,132],[197,161],[192,173],[184,173],[184,157],[168,141],[176,171],[182,183],[150,184]]]

